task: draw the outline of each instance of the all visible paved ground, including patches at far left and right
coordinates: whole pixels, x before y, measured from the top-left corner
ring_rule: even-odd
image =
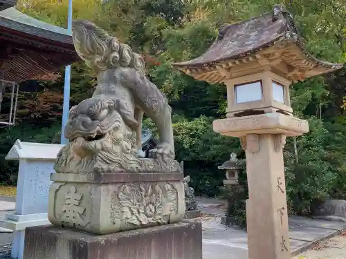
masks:
[[[197,219],[203,224],[203,259],[248,259],[246,232],[221,224],[225,203],[209,198],[197,200],[199,210],[204,213]],[[2,221],[6,213],[13,213],[14,206],[15,198],[0,196],[0,232],[1,227],[5,227]],[[290,217],[292,256],[304,251],[294,259],[345,259],[346,231],[344,236],[336,236],[345,228],[346,223]],[[0,233],[0,258],[3,258],[2,250],[8,250],[12,237],[12,233]],[[320,240],[323,241],[316,244]]]

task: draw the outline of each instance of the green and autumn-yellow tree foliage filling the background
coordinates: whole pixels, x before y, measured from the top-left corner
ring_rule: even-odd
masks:
[[[318,59],[346,61],[346,0],[282,0],[295,18],[307,50]],[[214,41],[219,26],[249,19],[271,10],[273,0],[73,0],[73,18],[89,19],[115,35],[147,62],[147,76],[168,97],[173,111],[177,160],[185,161],[197,193],[215,195],[224,172],[217,165],[231,152],[244,159],[239,140],[212,131],[212,120],[224,117],[226,88],[210,85],[173,70],[174,61],[201,55]],[[67,0],[19,0],[19,10],[37,19],[66,27]],[[64,71],[60,72],[64,75]],[[291,213],[309,214],[313,199],[345,198],[345,69],[293,84],[291,101],[295,115],[309,119],[311,132],[284,149],[286,184]],[[2,157],[16,138],[52,142],[62,113],[64,77],[35,82],[19,99],[17,128],[0,132]],[[25,82],[21,88],[34,83]],[[73,64],[71,105],[91,96],[95,75],[82,63]],[[33,88],[33,87],[31,87]],[[27,126],[30,125],[30,126]],[[149,119],[147,127],[153,128]],[[48,128],[43,128],[43,127]],[[30,129],[30,131],[28,131]],[[42,139],[42,134],[46,132]],[[20,133],[20,134],[19,134]],[[32,136],[29,137],[31,134]],[[1,163],[0,159],[0,163]],[[15,168],[2,162],[3,175]],[[7,166],[7,167],[6,167]],[[12,177],[12,176],[11,176]],[[246,186],[246,173],[241,183]],[[14,182],[9,176],[3,181]],[[12,178],[11,178],[12,179]],[[233,214],[244,223],[245,195],[238,198]]]

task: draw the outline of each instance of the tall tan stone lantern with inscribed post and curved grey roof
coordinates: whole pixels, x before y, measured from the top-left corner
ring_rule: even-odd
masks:
[[[293,117],[289,86],[343,67],[312,57],[283,6],[220,28],[200,57],[173,64],[195,79],[227,87],[226,119],[214,131],[239,137],[246,151],[248,258],[289,259],[291,249],[282,148],[309,131]]]

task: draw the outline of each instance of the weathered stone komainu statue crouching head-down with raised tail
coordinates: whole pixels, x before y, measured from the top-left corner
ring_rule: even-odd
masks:
[[[179,172],[174,161],[171,108],[145,77],[145,62],[126,44],[90,21],[73,21],[73,44],[97,73],[93,96],[71,108],[65,137],[70,143],[57,156],[64,173]],[[158,128],[159,144],[142,159],[143,114]]]

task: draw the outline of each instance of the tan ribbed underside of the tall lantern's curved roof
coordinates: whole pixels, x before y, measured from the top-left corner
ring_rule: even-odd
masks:
[[[290,81],[297,82],[343,67],[343,64],[324,65],[324,62],[318,62],[302,52],[294,41],[280,41],[269,48],[237,59],[226,59],[204,66],[175,66],[175,68],[197,80],[217,84],[227,79],[268,69]]]

